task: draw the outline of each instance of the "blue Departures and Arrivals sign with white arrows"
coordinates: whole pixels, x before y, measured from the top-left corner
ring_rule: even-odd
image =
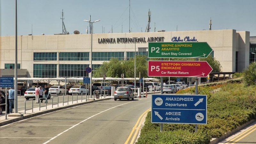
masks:
[[[207,96],[152,95],[151,123],[207,124]]]

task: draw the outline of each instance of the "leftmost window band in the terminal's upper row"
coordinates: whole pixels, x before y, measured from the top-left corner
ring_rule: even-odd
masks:
[[[57,60],[57,52],[34,52],[34,60]]]

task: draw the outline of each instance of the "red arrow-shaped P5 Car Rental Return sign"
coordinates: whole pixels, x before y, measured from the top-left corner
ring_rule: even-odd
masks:
[[[207,61],[148,61],[148,76],[207,77],[211,71]]]

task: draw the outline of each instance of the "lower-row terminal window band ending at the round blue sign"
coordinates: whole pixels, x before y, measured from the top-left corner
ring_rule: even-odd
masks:
[[[89,65],[85,64],[60,64],[59,77],[88,77],[85,69]]]

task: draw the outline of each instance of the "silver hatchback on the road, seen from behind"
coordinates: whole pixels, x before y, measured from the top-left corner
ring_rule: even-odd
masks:
[[[129,87],[118,87],[116,88],[114,100],[121,100],[121,99],[127,99],[127,100],[134,100],[134,93],[132,92],[131,88]]]

